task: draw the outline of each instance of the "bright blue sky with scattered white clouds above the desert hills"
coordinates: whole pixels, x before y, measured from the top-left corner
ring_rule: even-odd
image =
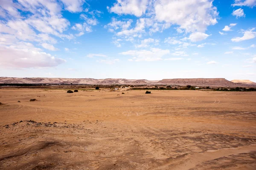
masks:
[[[250,79],[256,0],[0,0],[0,76]]]

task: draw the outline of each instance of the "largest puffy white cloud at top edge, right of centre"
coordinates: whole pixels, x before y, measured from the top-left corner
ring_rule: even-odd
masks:
[[[179,25],[186,32],[205,32],[218,17],[212,0],[156,0],[154,12],[159,22]]]

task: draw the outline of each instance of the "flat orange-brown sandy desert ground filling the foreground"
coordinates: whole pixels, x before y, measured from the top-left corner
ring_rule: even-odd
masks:
[[[256,92],[151,92],[0,89],[0,169],[256,169]]]

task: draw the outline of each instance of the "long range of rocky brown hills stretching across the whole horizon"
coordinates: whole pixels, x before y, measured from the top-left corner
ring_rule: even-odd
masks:
[[[237,82],[237,83],[236,83]],[[149,81],[146,79],[124,79],[124,78],[8,78],[0,77],[0,84],[163,84],[163,85],[192,85],[192,86],[256,86],[252,81],[235,81],[231,82],[225,78],[175,78],[163,79],[161,81]]]

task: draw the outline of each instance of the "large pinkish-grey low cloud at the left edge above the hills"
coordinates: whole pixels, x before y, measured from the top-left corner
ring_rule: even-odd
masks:
[[[35,48],[31,43],[20,42],[11,46],[0,46],[0,66],[5,68],[38,68],[58,66],[66,61]]]

